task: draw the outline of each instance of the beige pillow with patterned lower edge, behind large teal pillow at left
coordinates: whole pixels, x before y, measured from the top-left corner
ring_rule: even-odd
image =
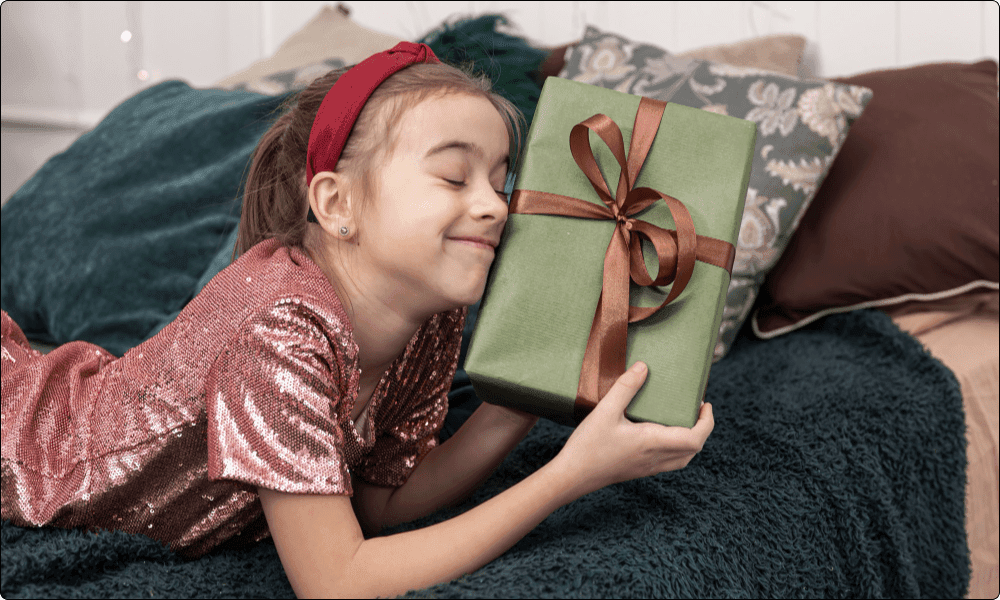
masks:
[[[226,89],[246,89],[280,94],[304,88],[331,69],[353,65],[403,41],[366,29],[348,17],[350,11],[324,6],[302,29],[289,37],[274,56],[215,84]]]

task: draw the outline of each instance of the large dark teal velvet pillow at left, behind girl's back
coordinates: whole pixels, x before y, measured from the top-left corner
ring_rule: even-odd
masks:
[[[281,98],[170,81],[113,110],[3,207],[0,306],[33,340],[121,355],[194,297],[239,222]]]

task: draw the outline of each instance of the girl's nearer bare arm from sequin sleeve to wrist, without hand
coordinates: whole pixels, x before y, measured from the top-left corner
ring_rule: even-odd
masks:
[[[493,560],[571,498],[540,469],[458,517],[364,539],[344,496],[260,489],[278,555],[299,598],[373,598],[448,581]]]

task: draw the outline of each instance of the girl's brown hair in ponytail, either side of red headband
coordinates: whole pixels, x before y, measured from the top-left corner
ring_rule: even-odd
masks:
[[[309,133],[323,98],[346,68],[330,71],[293,96],[264,134],[247,175],[234,256],[269,238],[302,247],[309,202],[305,184]],[[490,80],[444,63],[418,63],[386,79],[368,99],[347,138],[337,170],[359,182],[362,196],[377,190],[375,166],[384,164],[395,145],[394,125],[409,108],[435,95],[460,93],[489,100],[503,118],[511,143],[511,171],[520,144],[520,111],[491,91]]]

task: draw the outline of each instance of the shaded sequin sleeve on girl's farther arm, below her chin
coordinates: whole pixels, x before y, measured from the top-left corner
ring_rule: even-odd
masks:
[[[355,476],[373,485],[398,487],[437,446],[466,312],[462,308],[435,315],[407,348],[387,393],[390,402],[380,411],[383,426],[375,446]]]

